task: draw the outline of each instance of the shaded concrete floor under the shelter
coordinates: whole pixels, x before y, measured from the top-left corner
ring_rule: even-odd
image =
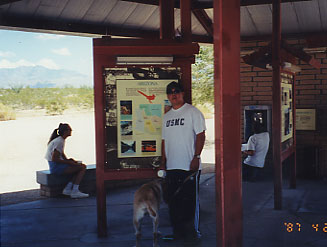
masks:
[[[216,246],[214,174],[201,176],[202,241],[164,242],[161,247]],[[133,194],[138,186],[108,191],[108,236],[97,237],[96,198],[50,198],[1,206],[1,246],[132,247]],[[327,182],[299,180],[295,190],[283,188],[283,210],[273,210],[273,183],[243,183],[243,247],[326,247]],[[287,228],[285,223],[292,223]],[[288,225],[291,226],[291,225]],[[171,232],[168,209],[160,209],[160,231]],[[287,229],[290,231],[288,232]],[[142,246],[152,246],[152,223],[146,218]]]

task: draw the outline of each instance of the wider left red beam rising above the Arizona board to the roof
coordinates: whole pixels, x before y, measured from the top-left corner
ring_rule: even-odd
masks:
[[[174,0],[160,0],[160,39],[173,39],[174,26]]]

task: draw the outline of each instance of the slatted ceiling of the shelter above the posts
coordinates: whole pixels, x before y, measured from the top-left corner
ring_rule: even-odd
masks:
[[[269,36],[272,0],[241,1],[241,37]],[[282,0],[282,33],[301,36],[327,33],[327,0]],[[192,34],[212,41],[212,0],[192,1]],[[0,29],[69,33],[99,37],[159,37],[159,0],[2,0]],[[180,28],[175,3],[176,34]]]

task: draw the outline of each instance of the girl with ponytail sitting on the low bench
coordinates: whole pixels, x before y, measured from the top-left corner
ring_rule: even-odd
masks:
[[[50,173],[73,175],[72,180],[66,185],[62,193],[71,198],[84,198],[89,195],[79,191],[79,184],[85,174],[86,166],[72,158],[68,159],[64,153],[65,140],[71,134],[72,129],[68,124],[59,124],[59,127],[51,134],[45,159],[49,163]]]

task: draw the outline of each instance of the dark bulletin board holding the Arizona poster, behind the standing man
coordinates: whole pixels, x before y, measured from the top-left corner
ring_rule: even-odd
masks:
[[[179,67],[105,69],[106,168],[159,167],[166,86],[180,78]]]

